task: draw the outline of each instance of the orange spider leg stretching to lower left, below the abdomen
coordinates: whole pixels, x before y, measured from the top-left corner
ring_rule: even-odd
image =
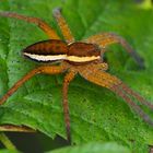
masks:
[[[24,75],[21,80],[19,80],[3,97],[0,99],[0,105],[2,105],[20,86],[23,85],[27,80],[33,78],[38,73],[47,73],[47,74],[57,74],[63,72],[66,69],[60,66],[42,66],[32,71],[30,71],[26,75]]]

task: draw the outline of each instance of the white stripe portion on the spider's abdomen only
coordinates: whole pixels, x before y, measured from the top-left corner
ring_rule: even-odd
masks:
[[[48,55],[32,55],[32,54],[24,52],[24,56],[27,56],[31,59],[35,59],[38,61],[55,61],[55,60],[66,60],[67,59],[67,55],[48,56]]]

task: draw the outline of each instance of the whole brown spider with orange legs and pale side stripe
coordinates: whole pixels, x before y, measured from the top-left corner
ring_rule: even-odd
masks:
[[[46,64],[31,70],[26,75],[19,80],[0,99],[0,105],[23,85],[23,83],[36,74],[66,73],[62,84],[62,106],[67,139],[71,142],[68,89],[74,76],[80,74],[85,80],[106,87],[120,96],[145,122],[153,126],[153,120],[133,102],[133,99],[139,101],[150,109],[153,109],[153,105],[146,102],[138,93],[130,90],[130,87],[118,78],[106,72],[108,64],[103,61],[103,55],[107,50],[106,47],[108,45],[116,43],[125,47],[136,62],[141,68],[143,67],[143,59],[121,36],[114,33],[101,33],[81,42],[75,42],[60,9],[54,10],[54,16],[62,32],[64,40],[61,40],[58,34],[40,19],[20,15],[12,12],[0,12],[0,15],[34,23],[49,37],[47,40],[35,43],[23,49],[24,57]]]

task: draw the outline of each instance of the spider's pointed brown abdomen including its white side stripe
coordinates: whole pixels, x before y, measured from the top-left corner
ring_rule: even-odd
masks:
[[[42,62],[66,60],[67,52],[67,44],[58,39],[38,42],[23,50],[25,57]]]

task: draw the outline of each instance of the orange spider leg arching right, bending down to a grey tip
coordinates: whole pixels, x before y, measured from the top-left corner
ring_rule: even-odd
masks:
[[[139,54],[123,39],[121,36],[114,33],[101,33],[85,39],[86,43],[97,44],[99,47],[105,48],[111,44],[120,44],[130,56],[137,61],[140,68],[144,68],[144,61]],[[103,51],[106,51],[105,49]]]

